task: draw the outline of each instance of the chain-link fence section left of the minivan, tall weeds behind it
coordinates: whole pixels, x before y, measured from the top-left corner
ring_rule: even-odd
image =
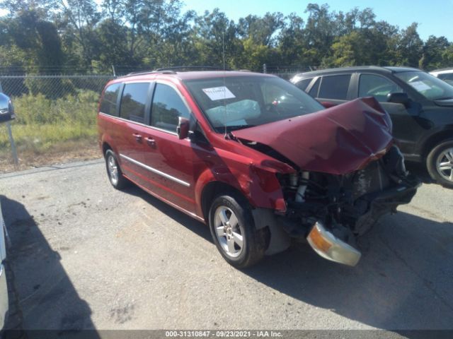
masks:
[[[3,92],[11,97],[16,119],[11,129],[21,168],[96,149],[96,108],[99,95],[114,76],[0,75]],[[13,155],[6,124],[0,124],[0,172],[12,170]],[[97,154],[98,156],[98,154]],[[50,158],[49,158],[50,157]],[[63,159],[62,159],[63,160]]]

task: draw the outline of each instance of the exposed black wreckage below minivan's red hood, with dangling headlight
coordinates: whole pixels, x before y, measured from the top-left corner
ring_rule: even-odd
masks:
[[[299,171],[280,175],[279,181],[287,211],[277,220],[289,236],[306,237],[323,258],[350,266],[360,258],[356,237],[409,203],[420,185],[406,172],[396,146],[350,174]]]

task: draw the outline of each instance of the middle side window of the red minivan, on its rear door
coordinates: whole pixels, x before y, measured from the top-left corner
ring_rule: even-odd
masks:
[[[144,123],[149,83],[127,83],[122,91],[120,117]]]

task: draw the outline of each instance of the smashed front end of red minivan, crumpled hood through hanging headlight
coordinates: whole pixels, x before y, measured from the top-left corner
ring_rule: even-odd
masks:
[[[277,174],[287,209],[275,221],[331,261],[355,266],[355,239],[420,186],[404,166],[391,120],[373,98],[235,131],[239,142],[291,165]],[[272,239],[271,239],[272,245]]]

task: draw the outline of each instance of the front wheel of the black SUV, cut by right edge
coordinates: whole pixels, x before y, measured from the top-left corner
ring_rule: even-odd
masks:
[[[426,158],[426,165],[432,179],[453,189],[453,139],[433,148]]]

